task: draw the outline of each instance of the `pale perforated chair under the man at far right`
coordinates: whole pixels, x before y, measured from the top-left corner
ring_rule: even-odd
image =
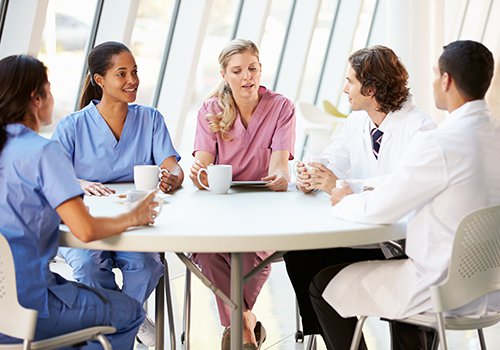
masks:
[[[465,216],[455,234],[447,279],[430,287],[434,312],[397,320],[438,330],[447,350],[445,330],[477,329],[481,349],[486,349],[483,328],[500,321],[500,311],[480,318],[444,315],[488,293],[500,291],[500,206],[479,209]],[[366,316],[359,318],[351,343],[358,349]]]

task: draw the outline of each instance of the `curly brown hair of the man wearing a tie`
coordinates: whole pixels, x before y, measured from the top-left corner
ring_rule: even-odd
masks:
[[[394,51],[381,45],[372,46],[353,53],[349,63],[361,82],[361,94],[366,96],[369,88],[375,90],[380,112],[401,109],[410,92],[409,76]]]

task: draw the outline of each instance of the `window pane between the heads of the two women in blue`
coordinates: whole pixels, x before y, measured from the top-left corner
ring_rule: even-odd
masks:
[[[48,3],[38,58],[49,70],[55,104],[53,123],[42,131],[53,130],[61,117],[75,109],[96,5],[97,0]]]

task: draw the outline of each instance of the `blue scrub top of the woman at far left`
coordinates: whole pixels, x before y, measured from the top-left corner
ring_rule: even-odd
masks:
[[[55,209],[83,192],[57,142],[22,124],[9,124],[6,131],[0,153],[0,232],[14,255],[19,302],[47,317],[48,290],[68,305],[76,297],[74,286],[50,272],[49,261],[59,246],[61,219]]]

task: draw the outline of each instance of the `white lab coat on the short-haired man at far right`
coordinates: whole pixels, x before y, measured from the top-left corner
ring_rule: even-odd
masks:
[[[348,196],[333,207],[337,217],[374,224],[413,214],[406,238],[409,259],[356,263],[329,283],[323,297],[340,315],[402,318],[432,309],[428,288],[446,277],[460,220],[500,203],[500,127],[495,124],[484,100],[464,104],[423,133],[374,191]],[[498,295],[490,295],[459,313],[484,314],[498,302]]]

